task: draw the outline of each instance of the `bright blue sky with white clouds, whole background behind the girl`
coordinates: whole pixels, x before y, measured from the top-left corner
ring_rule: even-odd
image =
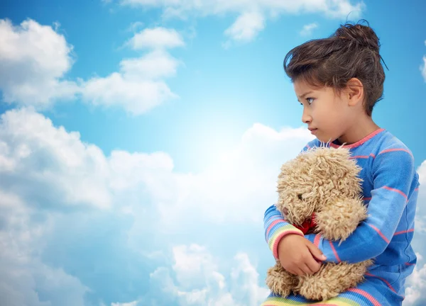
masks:
[[[280,164],[312,139],[285,54],[366,18],[389,68],[373,118],[413,151],[422,183],[425,11],[423,1],[3,1],[0,295],[258,305],[273,264],[263,212]],[[420,188],[405,305],[426,300],[425,200]]]

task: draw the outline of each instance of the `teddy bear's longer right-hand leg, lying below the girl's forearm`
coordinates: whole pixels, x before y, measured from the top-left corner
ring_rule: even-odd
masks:
[[[314,275],[301,276],[295,290],[310,300],[329,300],[364,280],[371,263],[325,263]]]

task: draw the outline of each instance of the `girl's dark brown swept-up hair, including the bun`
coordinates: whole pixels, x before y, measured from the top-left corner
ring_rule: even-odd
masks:
[[[371,116],[383,98],[385,72],[379,50],[379,39],[369,25],[345,23],[329,38],[309,40],[290,50],[284,70],[293,82],[306,81],[314,88],[329,86],[338,94],[349,79],[359,79],[364,86],[364,109]]]

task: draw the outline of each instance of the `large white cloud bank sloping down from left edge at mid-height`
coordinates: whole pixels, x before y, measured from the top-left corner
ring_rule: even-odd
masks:
[[[80,133],[53,126],[31,108],[0,116],[0,175],[5,184],[0,190],[11,193],[6,203],[16,193],[57,208],[111,208],[118,193],[141,185],[155,200],[169,199],[185,182],[185,175],[173,174],[168,154],[114,150],[106,157],[99,147],[82,142]]]

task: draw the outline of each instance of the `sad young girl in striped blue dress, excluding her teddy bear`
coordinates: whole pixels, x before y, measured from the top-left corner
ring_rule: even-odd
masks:
[[[374,265],[363,283],[327,302],[271,293],[263,306],[402,305],[405,280],[416,263],[411,240],[419,183],[413,154],[371,118],[385,80],[379,48],[369,26],[345,24],[329,38],[295,47],[284,60],[285,72],[303,106],[302,121],[316,136],[302,151],[324,143],[350,149],[362,168],[368,219],[339,245],[320,234],[304,236],[275,205],[266,210],[264,218],[273,256],[290,273],[315,273],[322,262],[374,259]]]

